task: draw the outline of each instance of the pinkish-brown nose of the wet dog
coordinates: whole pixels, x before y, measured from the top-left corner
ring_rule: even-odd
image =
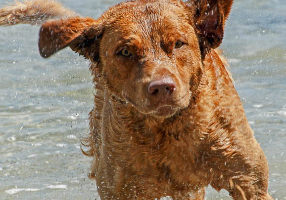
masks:
[[[153,80],[149,83],[148,92],[151,95],[167,96],[172,94],[176,90],[175,83],[171,78],[162,78],[159,80]]]

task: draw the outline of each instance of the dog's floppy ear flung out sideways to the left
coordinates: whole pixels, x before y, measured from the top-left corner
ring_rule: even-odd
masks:
[[[40,54],[47,58],[69,46],[73,51],[97,62],[102,31],[102,23],[89,17],[50,20],[40,29]]]

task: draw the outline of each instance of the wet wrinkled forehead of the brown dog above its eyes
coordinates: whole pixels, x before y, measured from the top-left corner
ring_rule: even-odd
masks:
[[[186,33],[190,26],[190,16],[180,4],[126,2],[110,13],[105,31],[154,41]]]

